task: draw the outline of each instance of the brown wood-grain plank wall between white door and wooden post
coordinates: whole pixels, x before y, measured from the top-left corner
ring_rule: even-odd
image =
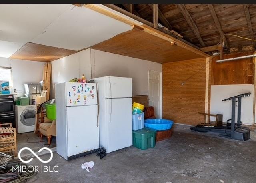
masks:
[[[162,71],[163,118],[188,125],[203,122],[198,112],[205,109],[206,58],[165,63]]]

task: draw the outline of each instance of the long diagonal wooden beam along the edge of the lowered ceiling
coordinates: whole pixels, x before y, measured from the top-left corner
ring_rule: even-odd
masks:
[[[109,16],[111,18],[114,18],[120,22],[124,22],[130,26],[132,26],[132,25],[143,26],[144,31],[146,30],[146,31],[150,32],[152,35],[160,36],[161,38],[167,39],[170,42],[174,41],[174,42],[176,42],[177,46],[180,46],[180,47],[182,47],[186,50],[189,50],[193,53],[196,53],[202,57],[210,56],[210,55],[202,52],[199,47],[180,38],[179,36],[174,35],[170,31],[162,30],[162,29],[160,29],[161,30],[160,31],[160,30],[154,29],[153,24],[151,22],[148,22],[147,20],[144,20],[143,18],[140,18],[134,14],[131,14],[130,12],[115,6],[114,4],[103,4],[103,5],[104,6],[98,5],[98,4],[84,4],[84,7],[94,10],[96,12],[99,12],[101,14],[104,14],[106,16]],[[105,6],[107,8],[104,8]],[[108,10],[108,8],[110,8],[111,10]],[[137,21],[143,23],[143,25],[138,24]]]

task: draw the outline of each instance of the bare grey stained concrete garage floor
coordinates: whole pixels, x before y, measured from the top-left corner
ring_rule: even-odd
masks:
[[[255,182],[256,141],[234,141],[176,125],[172,138],[145,151],[128,147],[100,160],[96,153],[66,161],[54,152],[58,173],[38,173],[28,182]],[[43,155],[47,160],[50,156]],[[88,173],[81,164],[94,161]]]

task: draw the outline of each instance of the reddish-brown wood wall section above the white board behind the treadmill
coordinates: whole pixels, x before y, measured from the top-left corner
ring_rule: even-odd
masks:
[[[222,59],[252,55],[254,52],[223,55]],[[254,84],[253,58],[216,63],[220,56],[212,57],[212,85]]]

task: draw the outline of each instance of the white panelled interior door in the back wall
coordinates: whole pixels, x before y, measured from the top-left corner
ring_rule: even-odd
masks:
[[[148,104],[154,107],[156,118],[162,118],[161,107],[161,73],[148,72]]]

